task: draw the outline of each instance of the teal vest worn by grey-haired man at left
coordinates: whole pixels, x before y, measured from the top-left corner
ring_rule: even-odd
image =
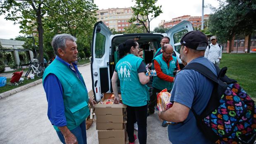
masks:
[[[84,79],[79,73],[82,81],[77,78],[76,74],[68,68],[67,65],[55,59],[43,73],[43,81],[49,73],[55,74],[60,80],[63,89],[63,101],[65,107],[65,116],[67,127],[73,130],[78,127],[89,116],[88,92]],[[57,126],[54,129],[60,131]]]

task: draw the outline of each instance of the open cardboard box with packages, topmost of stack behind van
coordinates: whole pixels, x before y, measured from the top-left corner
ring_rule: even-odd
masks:
[[[104,102],[106,99],[109,99],[113,93],[104,93],[103,98],[100,102]],[[121,97],[120,97],[121,99]],[[121,99],[122,100],[122,99]],[[124,116],[126,115],[126,105],[124,104],[101,104],[98,103],[95,105],[95,114],[98,115],[115,115],[115,116]]]

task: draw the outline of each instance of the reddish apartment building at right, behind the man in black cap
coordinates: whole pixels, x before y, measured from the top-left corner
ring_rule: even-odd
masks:
[[[209,14],[205,14],[203,16],[204,19],[204,27],[208,27],[208,19]],[[158,24],[158,26],[163,26],[164,28],[172,28],[173,26],[179,24],[181,21],[190,21],[194,30],[201,29],[202,24],[202,17],[191,17],[190,15],[184,15],[182,17],[176,17],[173,18],[170,21],[161,20],[161,22]]]

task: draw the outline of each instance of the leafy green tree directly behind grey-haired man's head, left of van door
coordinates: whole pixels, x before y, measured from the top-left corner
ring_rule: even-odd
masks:
[[[93,0],[55,0],[45,17],[45,52],[51,54],[51,40],[59,33],[69,33],[77,38],[79,52],[91,47],[93,25],[96,23],[97,6]]]

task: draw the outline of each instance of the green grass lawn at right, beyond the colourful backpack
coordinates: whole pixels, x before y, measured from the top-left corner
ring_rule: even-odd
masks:
[[[237,80],[244,90],[256,98],[256,53],[223,53],[220,68],[227,66],[227,76]]]

